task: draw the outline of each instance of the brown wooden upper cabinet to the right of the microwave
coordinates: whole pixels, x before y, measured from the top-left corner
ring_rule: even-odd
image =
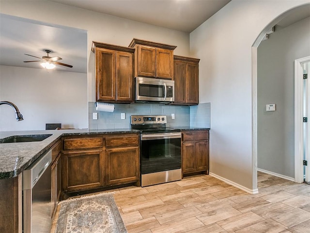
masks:
[[[199,103],[198,64],[200,59],[174,56],[174,102],[195,105]]]

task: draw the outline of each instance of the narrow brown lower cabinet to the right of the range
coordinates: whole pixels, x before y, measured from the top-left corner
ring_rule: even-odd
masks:
[[[182,174],[209,172],[209,131],[182,133]]]

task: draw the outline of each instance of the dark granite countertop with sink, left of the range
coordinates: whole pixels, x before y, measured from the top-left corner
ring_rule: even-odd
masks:
[[[49,150],[61,136],[92,135],[106,133],[140,133],[132,129],[106,130],[42,130],[0,132],[0,139],[13,135],[52,134],[43,141],[0,143],[0,179],[13,178],[31,165],[40,155]]]

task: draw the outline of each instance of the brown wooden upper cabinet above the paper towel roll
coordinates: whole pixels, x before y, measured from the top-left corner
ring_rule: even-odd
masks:
[[[125,102],[133,98],[134,49],[93,41],[96,101]]]

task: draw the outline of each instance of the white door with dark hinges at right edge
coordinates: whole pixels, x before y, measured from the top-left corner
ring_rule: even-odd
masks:
[[[304,106],[303,113],[304,117],[307,117],[308,122],[304,122],[303,125],[303,151],[304,151],[304,160],[308,162],[307,166],[304,166],[304,181],[310,182],[310,82],[309,82],[309,73],[310,73],[310,62],[303,64],[304,76],[307,75],[307,79],[304,79]]]

